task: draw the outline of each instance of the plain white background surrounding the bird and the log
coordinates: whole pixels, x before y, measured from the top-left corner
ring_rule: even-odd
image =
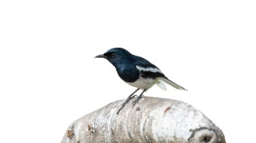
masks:
[[[61,142],[71,122],[135,90],[94,56],[123,47],[189,91],[227,142],[255,136],[253,1],[1,1],[1,142]]]

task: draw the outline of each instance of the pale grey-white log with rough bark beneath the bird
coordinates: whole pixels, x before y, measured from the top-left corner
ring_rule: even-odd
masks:
[[[224,134],[201,111],[182,101],[143,97],[124,100],[84,115],[67,129],[62,143],[172,142],[225,143]]]

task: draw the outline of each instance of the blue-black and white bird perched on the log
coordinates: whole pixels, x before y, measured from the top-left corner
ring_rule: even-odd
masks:
[[[105,58],[108,60],[115,66],[117,74],[125,83],[137,87],[137,89],[127,97],[121,108],[117,111],[117,114],[125,107],[125,104],[137,96],[134,94],[139,91],[139,89],[143,91],[137,96],[137,99],[133,101],[133,106],[141,99],[143,93],[155,84],[163,90],[166,90],[164,83],[167,83],[175,89],[187,91],[187,89],[181,87],[181,85],[170,81],[157,66],[141,56],[131,54],[124,48],[111,48],[104,54],[100,54],[94,58]]]

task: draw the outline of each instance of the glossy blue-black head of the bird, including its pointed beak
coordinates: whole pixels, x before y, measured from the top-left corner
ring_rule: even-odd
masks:
[[[95,56],[95,58],[106,58],[111,64],[117,66],[117,64],[121,64],[123,60],[129,59],[131,56],[132,54],[124,48],[111,48],[104,54]]]

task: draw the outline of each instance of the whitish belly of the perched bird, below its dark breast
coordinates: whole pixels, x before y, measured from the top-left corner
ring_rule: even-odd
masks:
[[[125,82],[125,83],[133,87],[137,87],[139,89],[150,89],[150,87],[152,87],[156,83],[156,81],[157,79],[145,79],[143,77],[140,77],[134,83],[128,83],[128,82]]]

